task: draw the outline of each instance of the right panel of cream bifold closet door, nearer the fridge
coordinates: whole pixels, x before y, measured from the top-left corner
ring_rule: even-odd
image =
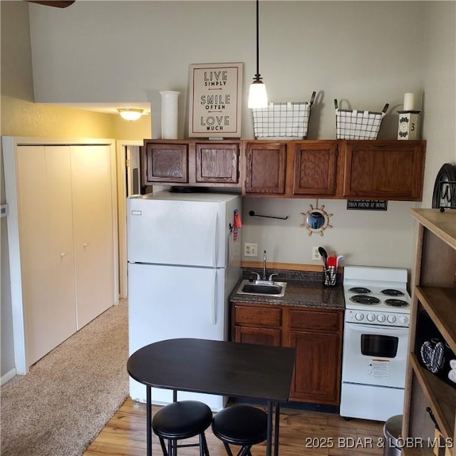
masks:
[[[72,145],[73,239],[78,329],[114,304],[110,149]]]

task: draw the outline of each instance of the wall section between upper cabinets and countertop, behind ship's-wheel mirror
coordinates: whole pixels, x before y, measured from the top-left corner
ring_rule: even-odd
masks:
[[[258,244],[266,250],[268,261],[319,264],[311,260],[312,247],[322,245],[328,252],[343,254],[343,265],[390,266],[410,268],[413,254],[413,220],[408,215],[413,203],[388,202],[388,212],[346,210],[346,201],[318,199],[324,204],[332,228],[323,237],[309,236],[301,212],[316,206],[310,199],[244,198],[243,242]],[[250,217],[249,211],[284,217],[287,220]],[[249,259],[249,258],[247,258]],[[250,258],[252,259],[252,258]]]

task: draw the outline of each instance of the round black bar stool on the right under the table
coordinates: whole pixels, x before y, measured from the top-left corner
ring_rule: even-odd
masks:
[[[212,432],[222,440],[229,456],[231,445],[239,445],[237,456],[251,456],[252,445],[264,442],[267,437],[268,415],[249,405],[232,405],[224,408],[212,420]]]

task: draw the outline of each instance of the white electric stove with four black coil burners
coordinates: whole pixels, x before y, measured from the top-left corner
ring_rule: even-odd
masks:
[[[403,410],[410,325],[406,269],[346,266],[341,415],[385,421]]]

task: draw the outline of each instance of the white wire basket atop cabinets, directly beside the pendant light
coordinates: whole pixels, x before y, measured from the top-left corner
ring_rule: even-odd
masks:
[[[253,108],[255,138],[305,140],[315,94],[312,93],[309,103],[269,103],[267,108]]]

